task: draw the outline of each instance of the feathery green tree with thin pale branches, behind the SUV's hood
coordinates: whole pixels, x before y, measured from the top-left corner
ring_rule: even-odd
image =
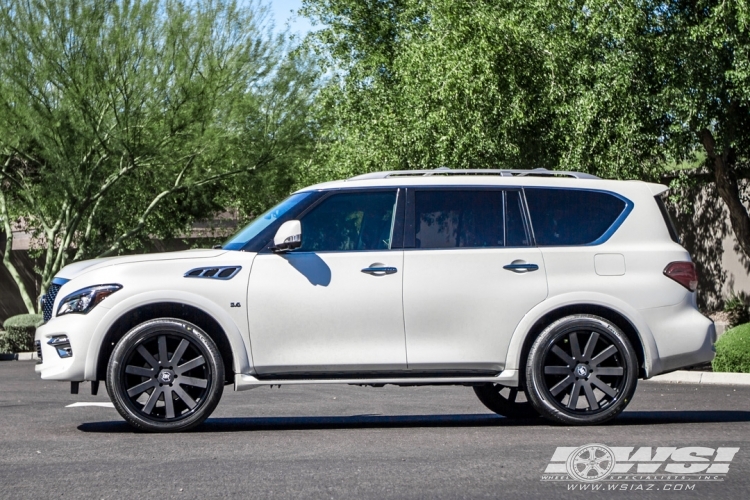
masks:
[[[224,0],[0,0],[0,219],[7,235],[13,221],[33,232],[42,293],[68,262],[262,205],[238,179],[288,189],[286,170],[311,140],[315,75],[304,53],[288,55],[266,11]],[[3,262],[31,312],[10,250]]]

